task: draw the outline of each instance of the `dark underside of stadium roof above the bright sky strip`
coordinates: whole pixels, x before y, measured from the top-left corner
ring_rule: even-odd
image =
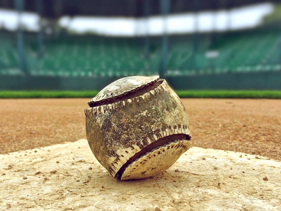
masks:
[[[145,2],[150,4],[149,14],[160,14],[161,0],[42,0],[43,16],[145,16]],[[25,11],[34,12],[40,0],[25,0]],[[266,0],[171,0],[170,13],[230,9],[249,4],[268,2]],[[279,2],[272,0],[270,2]],[[0,0],[0,8],[14,9],[14,1]]]

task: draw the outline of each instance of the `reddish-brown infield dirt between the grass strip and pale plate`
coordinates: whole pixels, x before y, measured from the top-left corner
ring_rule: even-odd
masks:
[[[0,153],[85,139],[89,99],[0,99]],[[281,100],[182,99],[193,146],[281,160]]]

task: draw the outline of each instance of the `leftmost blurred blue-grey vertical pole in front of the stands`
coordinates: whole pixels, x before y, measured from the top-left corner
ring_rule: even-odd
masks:
[[[17,30],[17,49],[18,49],[18,66],[24,74],[28,74],[25,64],[23,26],[21,23],[21,14],[24,9],[24,0],[14,0],[16,10],[18,11],[18,30]]]

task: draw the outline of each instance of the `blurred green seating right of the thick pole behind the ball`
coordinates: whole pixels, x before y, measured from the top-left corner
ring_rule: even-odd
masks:
[[[281,32],[252,31],[228,34],[213,45],[198,38],[201,49],[174,45],[169,54],[168,75],[202,75],[224,72],[281,70]]]

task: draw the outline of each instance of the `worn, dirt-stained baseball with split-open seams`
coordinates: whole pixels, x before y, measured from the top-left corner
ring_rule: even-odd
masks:
[[[114,178],[162,173],[191,147],[184,105],[159,76],[121,78],[88,104],[89,146]]]

